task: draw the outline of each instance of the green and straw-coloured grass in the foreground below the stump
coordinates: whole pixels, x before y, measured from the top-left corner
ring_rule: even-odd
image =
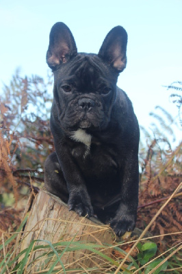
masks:
[[[16,232],[2,234],[0,274],[179,274],[181,273],[181,242],[177,242],[170,249],[159,253],[155,243],[156,236],[144,238],[144,235],[170,199],[180,190],[181,185],[182,183],[174,190],[166,203],[161,206],[137,240],[115,242],[113,245],[98,243],[99,240],[96,242],[81,242],[77,240],[77,234],[75,234],[71,240],[60,239],[58,242],[36,238],[31,240],[26,249],[21,250],[22,240],[30,233],[23,231],[28,219],[26,215]],[[42,226],[40,229],[42,229]],[[161,236],[168,236],[168,234]],[[7,239],[5,240],[5,238]],[[125,251],[123,247],[129,247],[129,249]],[[68,258],[68,260],[65,258]],[[73,260],[69,260],[70,258],[73,258]]]

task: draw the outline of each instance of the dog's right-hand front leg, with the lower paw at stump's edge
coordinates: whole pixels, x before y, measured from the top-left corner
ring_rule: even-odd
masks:
[[[138,208],[138,152],[133,153],[131,151],[127,155],[124,169],[120,171],[120,180],[122,182],[121,202],[116,216],[110,222],[118,236],[122,236],[127,231],[132,231],[135,227]]]

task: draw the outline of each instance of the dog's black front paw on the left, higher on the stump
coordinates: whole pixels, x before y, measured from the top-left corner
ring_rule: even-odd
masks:
[[[87,216],[88,218],[92,217],[94,214],[90,198],[82,197],[81,193],[70,195],[70,198],[68,199],[68,209],[75,210],[79,216]]]

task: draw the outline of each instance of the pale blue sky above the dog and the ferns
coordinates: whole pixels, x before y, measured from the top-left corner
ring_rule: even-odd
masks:
[[[182,81],[181,0],[0,1],[0,87],[17,66],[22,75],[47,75],[45,55],[54,23],[68,25],[79,51],[98,53],[112,27],[127,30],[127,69],[118,86],[133,102],[141,125],[155,105],[177,114],[163,86]],[[1,91],[0,91],[1,92]]]

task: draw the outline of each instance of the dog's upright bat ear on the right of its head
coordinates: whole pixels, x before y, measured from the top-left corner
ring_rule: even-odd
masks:
[[[113,66],[118,73],[127,64],[127,32],[123,27],[114,27],[105,37],[98,56]]]

